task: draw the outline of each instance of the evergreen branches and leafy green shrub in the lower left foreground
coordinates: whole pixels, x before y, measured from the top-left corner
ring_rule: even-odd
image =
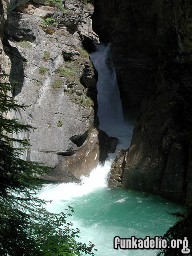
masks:
[[[80,231],[66,221],[73,208],[69,206],[66,213],[53,214],[44,208],[46,201],[35,196],[43,186],[36,176],[51,168],[20,159],[30,144],[14,134],[35,128],[16,118],[6,118],[10,111],[26,108],[10,96],[12,89],[9,82],[0,83],[0,255],[94,255],[94,245],[76,242]],[[20,148],[14,147],[15,143]]]

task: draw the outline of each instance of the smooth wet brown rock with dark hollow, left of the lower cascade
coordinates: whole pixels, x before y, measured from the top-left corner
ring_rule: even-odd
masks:
[[[84,137],[84,142],[81,136]],[[96,128],[82,135],[73,136],[68,142],[69,150],[57,152],[52,156],[56,159],[54,172],[41,178],[60,182],[79,181],[80,176],[89,175],[98,162],[104,162],[108,153],[114,152],[117,143],[116,138],[109,137],[105,132]]]

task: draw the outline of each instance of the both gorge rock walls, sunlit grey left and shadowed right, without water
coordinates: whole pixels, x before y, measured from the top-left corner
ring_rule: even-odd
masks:
[[[192,196],[192,3],[190,0],[65,0],[58,26],[44,0],[3,0],[0,69],[18,81],[12,92],[38,129],[27,160],[46,162],[41,177],[80,182],[114,153],[118,140],[99,129],[96,82],[89,57],[110,44],[132,140],[112,164],[110,187],[150,192],[175,202]],[[119,122],[119,121],[117,121]],[[109,135],[109,136],[108,136]]]

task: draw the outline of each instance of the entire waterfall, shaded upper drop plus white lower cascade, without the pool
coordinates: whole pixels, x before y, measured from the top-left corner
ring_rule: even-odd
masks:
[[[118,138],[118,148],[127,149],[130,146],[132,138],[132,123],[129,124],[123,118],[122,104],[120,100],[120,92],[116,79],[115,67],[111,59],[110,44],[107,46],[104,44],[96,45],[96,52],[90,54],[90,58],[98,72],[98,117],[100,121],[99,128],[104,130],[108,136],[114,136]],[[116,152],[109,154],[104,165],[98,164],[98,166],[92,170],[89,176],[81,177],[81,184],[67,183],[60,185],[50,185],[54,192],[50,194],[46,190],[46,198],[52,200],[60,200],[69,198],[76,198],[77,196],[83,196],[98,188],[104,188],[108,186],[108,179],[110,175],[111,165],[116,157]],[[60,193],[57,193],[58,190]],[[49,188],[49,191],[50,188]],[[56,198],[52,198],[53,195]],[[58,196],[60,194],[60,196]]]

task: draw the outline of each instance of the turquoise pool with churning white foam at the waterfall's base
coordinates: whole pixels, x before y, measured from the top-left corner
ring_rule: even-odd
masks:
[[[174,224],[167,214],[180,210],[178,206],[158,196],[106,186],[109,168],[98,166],[82,184],[48,184],[39,196],[52,200],[51,212],[62,212],[72,206],[75,210],[68,220],[80,228],[81,242],[93,242],[96,256],[155,256],[157,250],[114,250],[113,238],[145,238],[163,235]],[[98,173],[98,170],[101,173]],[[102,176],[100,176],[100,174]]]

